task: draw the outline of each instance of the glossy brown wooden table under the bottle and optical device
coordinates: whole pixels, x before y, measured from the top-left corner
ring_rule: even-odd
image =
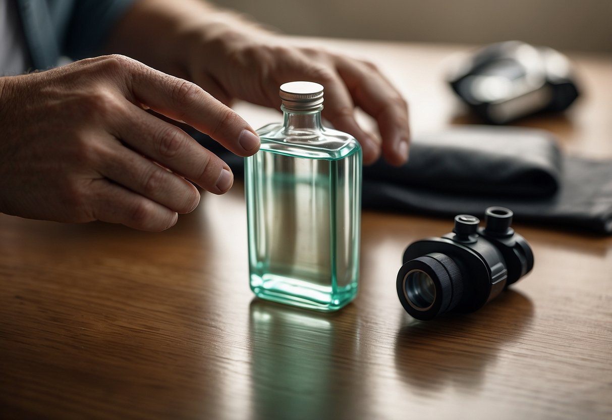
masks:
[[[415,132],[465,120],[442,75],[466,47],[321,42],[378,63]],[[612,60],[572,58],[580,102],[522,124],[612,158]],[[359,296],[325,315],[253,298],[239,182],[158,234],[0,215],[0,418],[612,418],[612,238],[515,225],[531,274],[420,323],[395,292],[401,253],[452,221],[368,211],[362,226]]]

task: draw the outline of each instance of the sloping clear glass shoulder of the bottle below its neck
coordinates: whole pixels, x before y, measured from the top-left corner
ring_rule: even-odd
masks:
[[[329,160],[361,154],[361,146],[353,136],[327,127],[286,130],[282,124],[268,124],[257,130],[257,134],[261,139],[261,151]]]

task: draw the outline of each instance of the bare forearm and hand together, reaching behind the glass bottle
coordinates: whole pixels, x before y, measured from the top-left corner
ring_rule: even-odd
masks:
[[[364,162],[382,153],[408,157],[408,106],[376,67],[321,48],[299,45],[204,0],[140,0],[116,24],[106,48],[191,80],[221,102],[243,99],[278,109],[287,81],[323,84],[323,115],[361,143]],[[362,129],[356,107],[373,116],[381,138]]]

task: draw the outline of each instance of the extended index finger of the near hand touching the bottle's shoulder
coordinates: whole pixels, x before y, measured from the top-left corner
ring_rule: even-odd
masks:
[[[239,156],[251,156],[258,151],[255,130],[233,110],[195,83],[135,63],[129,78],[138,102],[176,121],[186,122]]]

